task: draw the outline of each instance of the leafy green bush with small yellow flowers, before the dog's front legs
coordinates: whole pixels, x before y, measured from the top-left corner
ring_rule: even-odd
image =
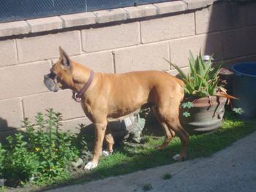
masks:
[[[7,185],[45,185],[65,179],[71,161],[78,159],[75,134],[59,130],[60,113],[50,109],[44,116],[39,112],[35,121],[32,124],[26,118],[26,132],[7,137],[7,144],[0,145],[0,175]]]

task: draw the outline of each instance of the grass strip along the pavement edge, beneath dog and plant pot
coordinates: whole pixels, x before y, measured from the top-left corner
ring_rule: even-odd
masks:
[[[211,134],[194,135],[189,139],[187,150],[188,160],[193,158],[207,157],[219,150],[231,145],[236,140],[251,134],[256,130],[255,120],[238,120],[233,115],[225,118],[222,128]],[[160,139],[151,139],[150,144],[160,144]],[[153,142],[152,142],[153,141]],[[173,164],[172,156],[179,152],[181,143],[178,138],[174,138],[165,150],[154,150],[155,146],[144,144],[142,147],[135,147],[133,152],[130,147],[118,147],[116,153],[108,158],[102,158],[97,169],[91,172],[79,172],[72,179],[64,180],[47,188],[40,188],[39,191],[50,188],[59,188],[65,185],[78,184],[99,180],[105,177],[128,174],[138,170],[153,168],[166,164]]]

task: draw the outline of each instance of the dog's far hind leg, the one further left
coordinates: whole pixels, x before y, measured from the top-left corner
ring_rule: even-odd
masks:
[[[156,110],[155,107],[152,107],[152,110],[154,112],[154,115],[156,116],[158,122],[162,126],[163,130],[165,131],[165,141],[162,143],[162,145],[159,145],[157,149],[165,149],[167,145],[169,145],[170,141],[173,139],[175,136],[175,132],[168,128],[167,124],[159,118],[159,112]]]

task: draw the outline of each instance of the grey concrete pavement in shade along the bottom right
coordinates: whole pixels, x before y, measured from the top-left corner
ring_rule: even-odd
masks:
[[[165,174],[172,177],[163,180]],[[151,185],[151,192],[256,191],[256,131],[209,158],[159,166],[48,192],[140,192],[145,185]]]

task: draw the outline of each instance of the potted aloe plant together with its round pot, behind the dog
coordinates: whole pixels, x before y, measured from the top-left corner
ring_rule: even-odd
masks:
[[[201,53],[194,58],[190,52],[188,74],[168,61],[184,81],[180,120],[189,134],[216,131],[222,125],[227,99],[235,99],[218,84],[221,64],[213,66],[211,61],[212,57],[204,61]]]

